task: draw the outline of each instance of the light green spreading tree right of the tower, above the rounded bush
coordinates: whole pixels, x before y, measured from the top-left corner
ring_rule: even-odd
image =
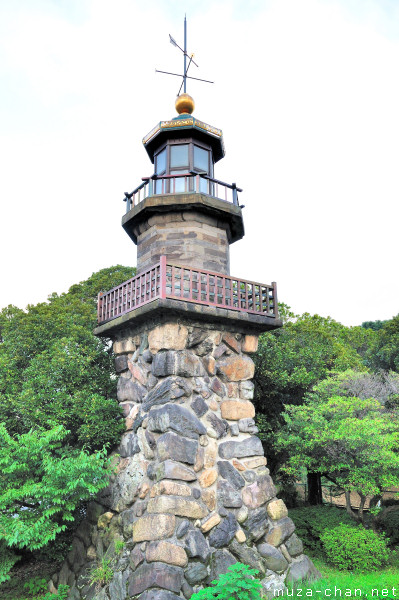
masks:
[[[351,382],[359,386],[353,372],[327,378],[302,406],[287,406],[278,443],[289,457],[289,472],[306,467],[328,478],[344,490],[351,516],[363,521],[367,497],[373,505],[384,488],[399,485],[399,418],[396,407],[350,396]],[[352,491],[361,499],[358,516],[351,509]]]

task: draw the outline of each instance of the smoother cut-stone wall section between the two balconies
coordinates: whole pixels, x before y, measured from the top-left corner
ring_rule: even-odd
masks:
[[[166,255],[193,268],[230,274],[226,224],[195,211],[156,214],[136,226],[137,273]]]

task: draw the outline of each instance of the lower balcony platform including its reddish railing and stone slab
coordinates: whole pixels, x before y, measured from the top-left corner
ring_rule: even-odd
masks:
[[[246,281],[185,265],[159,263],[98,298],[95,335],[112,337],[120,329],[151,320],[206,321],[240,333],[282,326],[276,284]]]

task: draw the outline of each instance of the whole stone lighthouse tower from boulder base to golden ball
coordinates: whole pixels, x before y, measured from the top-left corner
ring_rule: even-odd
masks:
[[[95,333],[113,342],[126,432],[56,582],[74,600],[188,600],[237,561],[270,598],[316,574],[251,402],[258,336],[281,326],[276,285],[230,275],[241,190],[215,177],[220,129],[187,94],[176,109],[143,139],[154,175],[126,194],[137,274],[99,297]],[[95,582],[101,564],[110,574]]]

